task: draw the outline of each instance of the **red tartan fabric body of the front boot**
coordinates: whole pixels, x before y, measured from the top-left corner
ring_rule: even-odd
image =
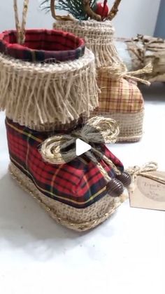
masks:
[[[103,196],[106,182],[96,165],[85,156],[78,156],[70,163],[52,165],[43,161],[39,146],[52,132],[36,132],[6,119],[10,160],[27,175],[45,196],[66,203],[75,208],[86,208]],[[101,146],[104,154],[123,171],[122,163],[106,146]],[[100,161],[111,178],[115,173]]]

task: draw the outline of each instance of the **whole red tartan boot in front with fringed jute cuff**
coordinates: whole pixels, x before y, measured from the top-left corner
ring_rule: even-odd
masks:
[[[130,175],[103,145],[117,140],[119,127],[113,119],[87,119],[98,105],[98,88],[94,54],[84,41],[62,31],[25,30],[28,1],[22,27],[14,4],[17,30],[0,39],[9,170],[57,222],[86,231],[128,195]],[[76,156],[76,138],[92,152]]]

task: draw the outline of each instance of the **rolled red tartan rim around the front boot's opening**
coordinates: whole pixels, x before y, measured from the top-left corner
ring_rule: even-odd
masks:
[[[25,31],[25,43],[27,36],[40,36],[38,42],[47,41],[46,37],[53,36],[52,41],[55,38],[62,40],[62,46],[66,46],[66,50],[45,50],[38,48],[30,48],[26,44],[17,44],[16,41],[10,41],[9,38],[16,40],[17,32],[14,29],[6,30],[0,34],[0,53],[9,55],[12,58],[20,59],[29,62],[62,62],[75,60],[85,53],[85,41],[84,39],[62,30],[57,29],[26,29]],[[41,39],[41,36],[43,39]],[[28,40],[29,41],[29,40]],[[34,42],[37,40],[34,38]],[[67,42],[69,42],[69,47],[67,48]],[[53,42],[52,42],[53,43]],[[71,48],[73,46],[73,48]]]

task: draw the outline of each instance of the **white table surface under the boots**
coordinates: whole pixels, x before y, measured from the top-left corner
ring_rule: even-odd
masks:
[[[111,150],[124,165],[157,161],[165,171],[165,85],[143,87],[141,142]],[[57,225],[8,175],[0,114],[0,293],[165,293],[165,212],[130,208],[78,234]]]

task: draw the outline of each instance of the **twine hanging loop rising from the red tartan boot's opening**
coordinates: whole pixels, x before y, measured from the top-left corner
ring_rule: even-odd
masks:
[[[17,43],[24,44],[25,39],[25,27],[27,23],[27,11],[29,6],[29,0],[24,0],[23,11],[22,11],[22,25],[20,25],[18,8],[17,8],[17,0],[13,2],[14,11],[15,11],[15,27],[17,30]]]

